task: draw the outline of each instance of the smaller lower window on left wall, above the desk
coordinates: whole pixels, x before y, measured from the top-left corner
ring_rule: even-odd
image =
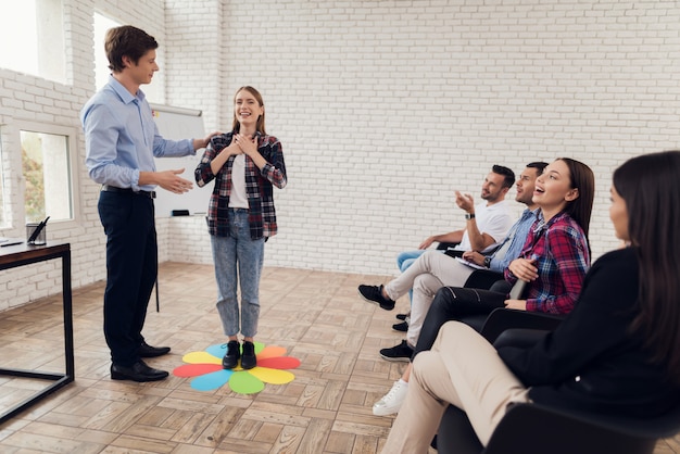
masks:
[[[30,123],[21,123],[18,127],[26,223],[47,216],[50,222],[74,219],[75,130]]]

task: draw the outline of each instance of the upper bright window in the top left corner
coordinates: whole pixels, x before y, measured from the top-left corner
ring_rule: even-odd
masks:
[[[0,67],[64,83],[61,0],[0,0]]]

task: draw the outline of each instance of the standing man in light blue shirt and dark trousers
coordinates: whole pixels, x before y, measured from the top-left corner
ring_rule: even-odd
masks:
[[[80,111],[86,165],[101,184],[99,217],[106,234],[104,337],[111,350],[111,378],[155,381],[167,371],[141,358],[169,352],[149,345],[141,335],[158,274],[153,198],[156,186],[175,193],[191,189],[184,169],[156,172],[153,157],[185,156],[207,146],[210,137],[181,141],[159,135],[142,84],[159,71],[158,42],[133,26],[112,28],[104,48],[112,75]]]

